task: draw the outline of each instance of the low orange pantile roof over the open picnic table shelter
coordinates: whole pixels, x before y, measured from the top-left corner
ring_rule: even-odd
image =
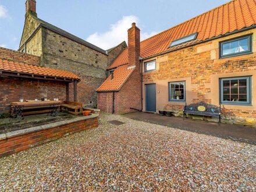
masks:
[[[38,67],[34,65],[27,65],[2,59],[0,59],[0,70],[5,72],[29,73],[41,76],[61,77],[67,79],[80,79],[79,76],[71,72],[49,69],[46,67]]]

